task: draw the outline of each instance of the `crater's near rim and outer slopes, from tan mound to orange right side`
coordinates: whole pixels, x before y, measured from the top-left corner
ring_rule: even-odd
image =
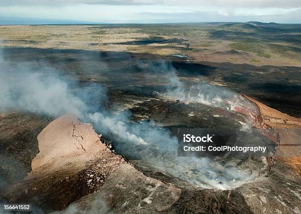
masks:
[[[101,142],[90,124],[63,115],[37,136],[31,172],[0,193],[49,213],[300,213],[300,119],[247,97],[264,125],[279,133],[275,164],[264,177],[232,190],[201,189],[155,169],[144,174]],[[5,116],[4,116],[5,118]],[[3,119],[3,118],[2,118]],[[7,118],[9,119],[9,118]],[[300,155],[299,155],[300,156]]]

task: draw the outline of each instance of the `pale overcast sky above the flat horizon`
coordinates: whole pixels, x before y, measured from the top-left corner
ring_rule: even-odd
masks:
[[[301,23],[301,0],[0,0],[0,24]]]

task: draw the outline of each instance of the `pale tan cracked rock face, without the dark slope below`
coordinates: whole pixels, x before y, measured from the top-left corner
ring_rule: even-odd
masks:
[[[106,149],[92,125],[78,121],[73,115],[55,119],[41,131],[37,140],[40,152],[32,160],[32,173],[53,171],[75,163],[77,167],[84,167],[87,161]]]

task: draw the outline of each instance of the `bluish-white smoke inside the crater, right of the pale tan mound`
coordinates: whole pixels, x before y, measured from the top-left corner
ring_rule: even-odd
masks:
[[[87,117],[97,131],[111,136],[117,152],[125,157],[139,156],[144,164],[191,184],[225,190],[255,178],[249,171],[225,167],[209,158],[178,157],[177,138],[168,130],[156,127],[154,122],[130,122],[126,112],[113,115],[98,112]]]

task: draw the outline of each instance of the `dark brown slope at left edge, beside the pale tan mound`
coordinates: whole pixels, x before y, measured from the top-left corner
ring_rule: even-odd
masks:
[[[22,181],[38,154],[37,135],[51,118],[30,113],[0,114],[0,191]]]

